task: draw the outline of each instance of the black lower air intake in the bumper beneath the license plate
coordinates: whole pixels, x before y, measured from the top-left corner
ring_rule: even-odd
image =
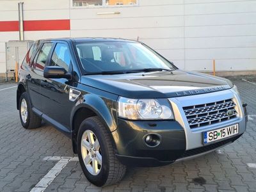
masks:
[[[205,145],[204,147],[199,147],[199,148],[193,148],[193,149],[190,149],[190,150],[186,150],[184,152],[183,156],[180,157],[180,158],[195,156],[195,155],[207,152],[209,150],[214,150],[216,148],[220,148],[223,145],[226,145],[228,143],[232,143],[233,141],[237,140],[240,136],[241,135],[238,135],[238,136],[235,136],[233,138],[228,138],[226,140],[220,141],[218,143],[212,143],[212,144],[209,144],[209,145]]]

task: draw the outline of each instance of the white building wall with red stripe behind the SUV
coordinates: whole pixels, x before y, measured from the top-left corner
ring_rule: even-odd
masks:
[[[20,1],[0,0],[0,73],[5,42],[19,40]],[[23,0],[24,40],[140,40],[185,70],[256,70],[256,0]]]

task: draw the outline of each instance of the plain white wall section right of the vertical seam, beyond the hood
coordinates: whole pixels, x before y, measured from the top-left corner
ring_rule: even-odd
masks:
[[[188,70],[256,70],[256,1],[185,0]]]

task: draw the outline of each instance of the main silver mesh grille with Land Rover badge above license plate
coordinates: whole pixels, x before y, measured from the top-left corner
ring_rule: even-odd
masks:
[[[232,99],[184,107],[184,113],[191,129],[218,124],[237,117],[236,103]],[[232,115],[227,111],[232,110]]]

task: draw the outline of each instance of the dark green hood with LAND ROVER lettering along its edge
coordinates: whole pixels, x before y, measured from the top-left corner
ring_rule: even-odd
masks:
[[[232,88],[228,79],[198,72],[174,70],[117,75],[83,76],[81,83],[128,98],[168,98]]]

